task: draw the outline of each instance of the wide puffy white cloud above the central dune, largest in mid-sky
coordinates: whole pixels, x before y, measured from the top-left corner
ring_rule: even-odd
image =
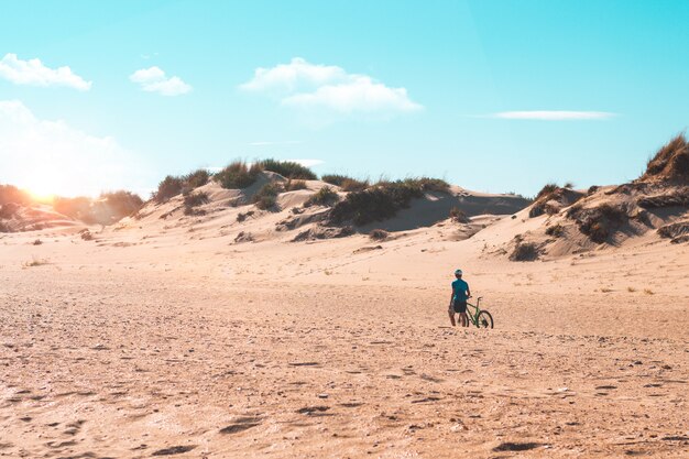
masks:
[[[405,88],[391,88],[368,75],[348,74],[341,67],[310,64],[300,57],[258,68],[240,88],[277,96],[282,106],[311,113],[386,118],[423,109]]]

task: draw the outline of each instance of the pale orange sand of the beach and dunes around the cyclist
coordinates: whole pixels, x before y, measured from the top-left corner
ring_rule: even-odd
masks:
[[[303,206],[322,183],[271,210],[260,185],[0,234],[0,456],[689,456],[689,244],[657,231],[686,208],[603,242],[568,217],[630,217],[657,184],[538,216],[451,188],[347,231]],[[458,266],[494,329],[450,327]]]

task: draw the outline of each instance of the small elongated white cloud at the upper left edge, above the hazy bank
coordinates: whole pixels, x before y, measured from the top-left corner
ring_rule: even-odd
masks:
[[[53,69],[43,65],[41,59],[22,61],[12,53],[0,59],[0,78],[15,85],[67,86],[83,91],[91,88],[91,81],[86,81],[67,66]]]

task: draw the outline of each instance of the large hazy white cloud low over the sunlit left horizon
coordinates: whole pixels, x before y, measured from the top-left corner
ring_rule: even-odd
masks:
[[[44,195],[95,196],[144,189],[144,170],[110,136],[41,120],[19,100],[0,100],[0,183]]]

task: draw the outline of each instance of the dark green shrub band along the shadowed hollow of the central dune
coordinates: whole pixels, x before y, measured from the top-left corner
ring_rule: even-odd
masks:
[[[347,195],[330,214],[330,221],[340,225],[352,221],[367,225],[394,217],[397,210],[409,207],[412,199],[427,192],[449,192],[449,184],[438,178],[407,178],[396,182],[380,182],[363,192]]]

